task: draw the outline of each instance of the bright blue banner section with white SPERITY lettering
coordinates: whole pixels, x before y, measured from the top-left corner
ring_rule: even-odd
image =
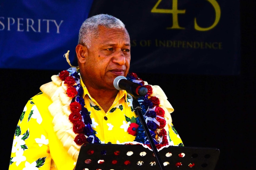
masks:
[[[0,68],[66,69],[92,0],[0,2]]]

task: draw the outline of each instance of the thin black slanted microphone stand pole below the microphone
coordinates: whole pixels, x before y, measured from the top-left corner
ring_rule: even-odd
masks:
[[[133,106],[133,108],[135,110],[135,113],[138,114],[138,116],[139,116],[140,122],[141,122],[141,124],[143,126],[143,129],[144,129],[144,131],[146,133],[146,136],[148,137],[149,143],[150,143],[151,148],[152,148],[152,150],[153,150],[153,152],[154,152],[154,154],[155,154],[155,156],[157,158],[157,161],[158,161],[158,164],[159,164],[161,170],[165,170],[165,167],[164,167],[164,164],[162,162],[162,159],[159,156],[159,153],[157,151],[157,147],[156,147],[156,145],[155,145],[155,143],[153,141],[153,138],[152,138],[152,136],[151,136],[151,134],[149,132],[148,126],[146,124],[146,121],[145,121],[145,119],[143,117],[143,114],[141,112],[140,103],[138,102],[138,100],[135,97],[133,97],[132,106]]]

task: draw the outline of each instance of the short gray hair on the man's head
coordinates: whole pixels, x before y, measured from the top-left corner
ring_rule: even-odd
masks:
[[[124,23],[116,17],[108,14],[94,15],[86,19],[81,25],[78,44],[83,44],[90,48],[92,38],[99,34],[99,26],[126,30]]]

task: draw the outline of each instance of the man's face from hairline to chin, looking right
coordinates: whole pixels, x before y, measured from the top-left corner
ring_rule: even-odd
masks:
[[[97,89],[113,89],[117,76],[126,76],[130,67],[130,38],[124,29],[99,26],[88,48],[83,72],[86,85]]]

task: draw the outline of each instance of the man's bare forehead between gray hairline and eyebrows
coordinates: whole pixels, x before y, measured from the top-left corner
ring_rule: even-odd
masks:
[[[98,36],[94,40],[98,44],[121,43],[130,45],[130,37],[126,29],[99,26]]]

